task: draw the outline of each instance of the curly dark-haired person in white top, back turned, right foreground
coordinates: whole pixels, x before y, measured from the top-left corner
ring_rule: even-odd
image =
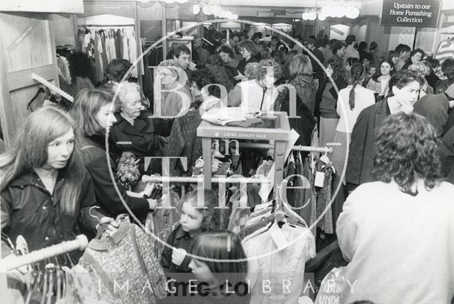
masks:
[[[450,303],[454,186],[441,181],[437,135],[422,116],[397,113],[384,120],[375,145],[377,181],[348,196],[337,222],[349,261],[336,286],[343,303]]]

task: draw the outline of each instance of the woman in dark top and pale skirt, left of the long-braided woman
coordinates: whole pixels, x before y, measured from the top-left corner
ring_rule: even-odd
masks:
[[[347,86],[345,73],[343,69],[343,62],[341,60],[328,60],[328,67],[326,67],[328,74],[336,84],[337,89],[341,90]],[[336,113],[336,103],[338,102],[338,93],[331,81],[326,78],[326,82],[321,85],[323,89],[319,89],[321,93],[320,98],[320,145],[326,145],[326,142],[333,142],[334,131],[339,122],[338,113]]]

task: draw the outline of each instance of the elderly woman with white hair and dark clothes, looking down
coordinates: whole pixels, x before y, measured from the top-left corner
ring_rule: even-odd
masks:
[[[143,157],[162,156],[159,135],[170,135],[173,120],[150,118],[153,113],[144,109],[138,84],[125,82],[114,86],[114,90],[118,91],[114,101],[116,122],[109,134],[114,154],[118,158],[123,152],[133,152],[141,159],[139,169],[142,173]]]

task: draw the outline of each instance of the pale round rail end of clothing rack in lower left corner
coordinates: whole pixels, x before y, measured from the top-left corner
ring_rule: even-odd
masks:
[[[88,246],[88,239],[85,235],[77,235],[75,240],[62,242],[50,247],[36,250],[23,256],[12,257],[11,259],[0,260],[0,273],[16,269],[21,266],[43,261],[50,257],[56,257],[60,254],[72,252],[74,250],[85,250]]]

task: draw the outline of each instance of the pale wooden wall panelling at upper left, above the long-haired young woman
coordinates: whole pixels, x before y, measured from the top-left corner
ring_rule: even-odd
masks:
[[[39,85],[31,72],[58,86],[52,18],[46,13],[0,13],[0,123],[9,145],[23,120],[26,105]]]

